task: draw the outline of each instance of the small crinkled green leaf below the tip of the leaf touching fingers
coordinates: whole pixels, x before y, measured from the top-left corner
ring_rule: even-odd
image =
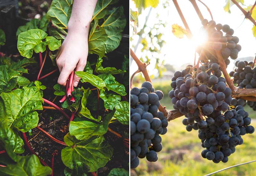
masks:
[[[120,102],[121,97],[116,93],[100,91],[100,98],[104,101],[104,107],[106,109],[113,110],[114,107]]]

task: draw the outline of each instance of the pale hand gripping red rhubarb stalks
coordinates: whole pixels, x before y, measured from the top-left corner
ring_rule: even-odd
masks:
[[[85,31],[68,32],[58,52],[56,62],[60,70],[58,84],[65,86],[71,72],[83,71],[88,56],[88,35]],[[80,78],[74,76],[74,86],[79,83]]]

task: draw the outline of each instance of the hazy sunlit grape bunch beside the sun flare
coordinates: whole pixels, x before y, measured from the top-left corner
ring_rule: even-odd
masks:
[[[238,52],[241,51],[241,45],[237,44],[239,38],[233,36],[234,30],[232,28],[227,24],[216,24],[213,20],[208,22],[207,19],[202,20],[202,25],[208,33],[207,44],[197,49],[198,53],[201,53],[202,49],[205,51],[204,59],[201,60],[202,63],[207,63],[209,60],[214,63],[219,63],[215,51],[221,51],[226,65],[230,63],[229,57],[233,60],[238,57]]]

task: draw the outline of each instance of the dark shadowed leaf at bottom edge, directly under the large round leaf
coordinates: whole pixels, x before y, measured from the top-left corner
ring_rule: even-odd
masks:
[[[73,169],[69,169],[68,167],[64,169],[65,176],[87,176],[87,173],[90,170],[87,165],[82,162],[73,162],[73,165]]]

